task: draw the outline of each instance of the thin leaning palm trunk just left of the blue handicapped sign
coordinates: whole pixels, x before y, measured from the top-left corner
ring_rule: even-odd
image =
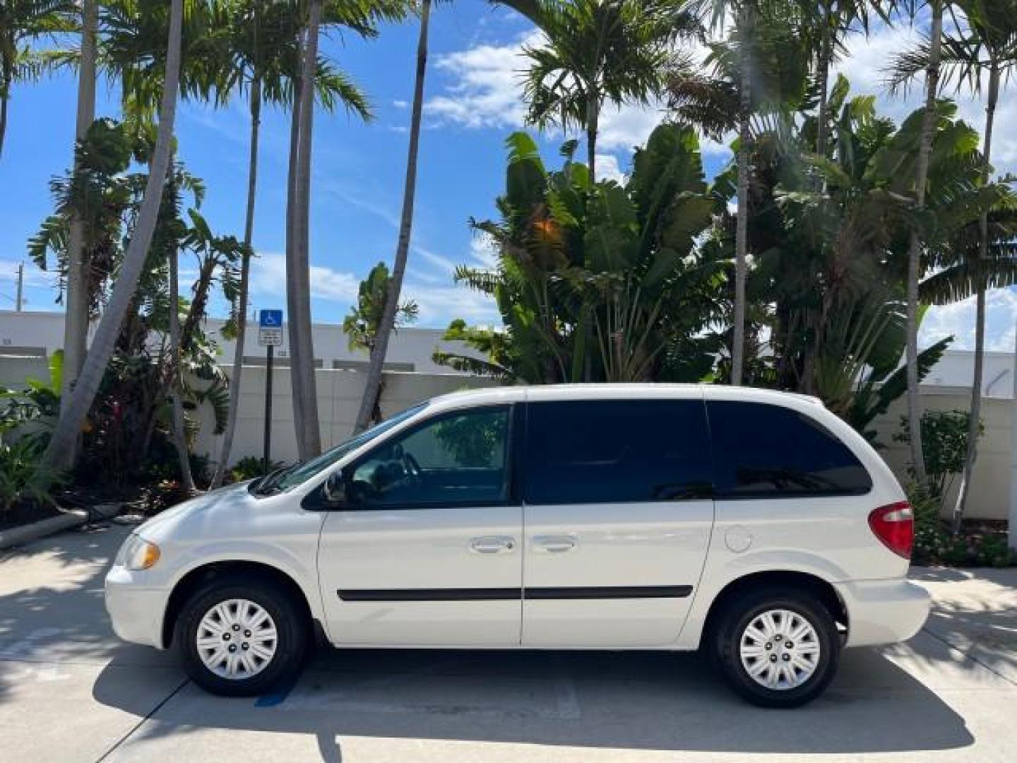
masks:
[[[261,79],[256,74],[251,81],[251,141],[247,164],[247,214],[244,219],[244,251],[240,259],[240,294],[237,296],[237,336],[233,350],[233,372],[230,374],[230,408],[223,432],[223,448],[212,478],[211,488],[223,484],[229,468],[233,433],[237,428],[237,410],[240,407],[240,376],[244,368],[244,337],[247,333],[247,291],[250,288],[251,240],[254,236],[254,199],[257,192],[257,145],[261,126]]]

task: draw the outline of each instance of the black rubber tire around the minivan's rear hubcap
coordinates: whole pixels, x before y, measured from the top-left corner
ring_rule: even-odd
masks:
[[[750,674],[741,660],[739,649],[745,629],[759,615],[775,609],[793,612],[806,621],[816,633],[819,658],[812,676],[798,686],[765,687]],[[764,645],[764,648],[768,647]],[[799,707],[822,694],[836,674],[840,638],[829,610],[815,596],[794,588],[758,588],[739,594],[724,607],[712,635],[712,652],[713,661],[724,680],[742,699],[760,707]],[[783,653],[779,657],[776,653],[770,654],[766,659],[776,661],[775,657],[783,659]]]

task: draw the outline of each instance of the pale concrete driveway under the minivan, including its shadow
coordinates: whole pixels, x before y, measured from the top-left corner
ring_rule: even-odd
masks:
[[[118,643],[102,605],[127,528],[0,556],[0,760],[1008,761],[1017,574],[922,571],[906,645],[845,652],[794,711],[734,699],[695,655],[327,651],[291,691],[203,694],[175,655]]]

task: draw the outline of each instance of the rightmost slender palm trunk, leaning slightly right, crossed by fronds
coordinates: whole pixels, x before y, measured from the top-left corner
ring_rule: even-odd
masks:
[[[996,105],[1000,98],[1000,67],[994,61],[989,71],[989,98],[985,102],[985,137],[984,163],[981,171],[982,183],[989,182],[990,168],[993,156],[993,127],[996,121]],[[982,277],[982,267],[989,258],[989,213],[981,213],[978,221],[980,240],[978,241],[978,257],[975,262],[975,318],[974,318],[974,374],[971,379],[971,419],[967,426],[967,452],[964,455],[964,472],[957,491],[957,503],[954,504],[953,532],[960,533],[964,521],[964,510],[967,506],[967,493],[971,487],[971,477],[974,474],[974,461],[978,457],[978,430],[981,421],[981,377],[985,364],[985,279]]]

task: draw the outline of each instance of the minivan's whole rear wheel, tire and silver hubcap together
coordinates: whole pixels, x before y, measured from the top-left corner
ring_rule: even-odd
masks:
[[[795,589],[755,589],[730,601],[714,633],[728,685],[761,707],[797,707],[833,680],[840,639],[823,602]]]

